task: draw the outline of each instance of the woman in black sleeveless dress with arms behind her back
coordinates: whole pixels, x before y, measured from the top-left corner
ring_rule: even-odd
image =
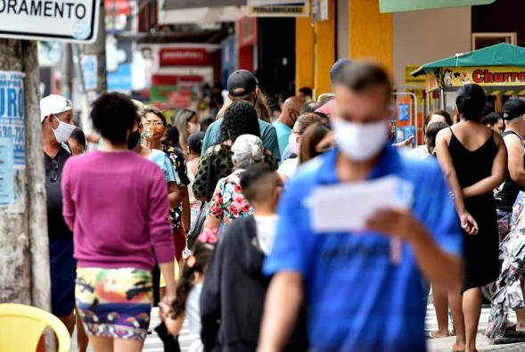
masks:
[[[480,123],[483,88],[463,86],[455,103],[461,122],[439,132],[436,151],[464,230],[462,292],[449,295],[457,333],[454,351],[475,352],[480,288],[494,282],[499,271],[493,190],[504,180],[507,156],[501,136]]]

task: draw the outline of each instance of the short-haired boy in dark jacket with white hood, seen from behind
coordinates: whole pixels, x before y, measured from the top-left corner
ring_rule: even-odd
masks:
[[[207,352],[217,343],[223,352],[257,348],[270,281],[262,274],[262,264],[273,247],[283,182],[273,168],[261,163],[242,173],[241,186],[254,214],[234,220],[210,258],[201,293],[201,337]],[[295,344],[289,350],[306,347]]]

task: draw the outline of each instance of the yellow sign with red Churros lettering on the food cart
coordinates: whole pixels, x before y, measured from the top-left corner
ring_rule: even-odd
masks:
[[[427,88],[438,86],[525,86],[525,68],[517,67],[447,67],[427,77]]]

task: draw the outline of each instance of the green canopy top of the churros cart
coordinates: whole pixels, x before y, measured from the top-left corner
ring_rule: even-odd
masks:
[[[470,53],[460,53],[447,59],[422,65],[411,73],[412,76],[433,72],[442,67],[525,67],[525,48],[506,43],[488,46]]]

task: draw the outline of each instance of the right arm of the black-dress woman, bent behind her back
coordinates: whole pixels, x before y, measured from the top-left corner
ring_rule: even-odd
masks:
[[[480,194],[492,192],[503,183],[504,176],[507,172],[507,149],[500,135],[495,135],[497,154],[492,164],[492,173],[490,176],[483,178],[480,182],[472,184],[463,189],[463,197],[471,198]],[[523,159],[521,157],[521,165]]]

